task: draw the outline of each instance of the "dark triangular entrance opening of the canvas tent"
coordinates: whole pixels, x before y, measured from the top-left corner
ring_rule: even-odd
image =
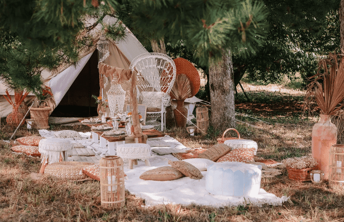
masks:
[[[97,104],[92,95],[99,95],[99,90],[98,51],[95,50],[50,116],[98,116]]]

